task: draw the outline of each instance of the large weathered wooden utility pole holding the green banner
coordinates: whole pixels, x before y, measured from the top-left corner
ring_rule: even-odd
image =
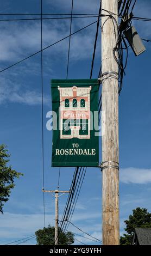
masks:
[[[102,0],[102,230],[103,245],[119,245],[118,163],[118,0]],[[117,57],[117,56],[116,56]]]

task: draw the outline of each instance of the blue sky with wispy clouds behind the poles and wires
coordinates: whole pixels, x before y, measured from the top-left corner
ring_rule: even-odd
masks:
[[[73,13],[98,13],[99,0],[74,1]],[[135,16],[150,17],[151,3],[137,0]],[[43,13],[70,13],[71,0],[43,0]],[[1,0],[1,13],[40,13],[39,0]],[[6,16],[3,16],[6,18]],[[10,18],[12,18],[10,16]],[[72,31],[96,18],[73,20]],[[150,22],[133,22],[141,38],[151,39]],[[1,22],[0,70],[40,50],[40,21]],[[43,21],[43,47],[69,34],[70,20]],[[96,25],[71,38],[68,78],[89,78]],[[120,232],[124,220],[137,206],[151,210],[151,43],[146,52],[135,57],[129,48],[126,76],[119,97]],[[46,129],[46,113],[51,110],[51,78],[66,78],[68,39],[43,52],[44,163],[45,188],[56,189],[59,168],[51,168],[52,132]],[[93,77],[100,65],[100,33]],[[24,176],[16,180],[9,202],[0,217],[0,243],[33,235],[43,228],[42,148],[41,148],[41,75],[40,54],[0,74],[1,141],[8,145],[10,164]],[[101,159],[100,159],[101,161]],[[60,189],[71,185],[74,168],[61,168]],[[54,225],[54,198],[46,194],[46,225]],[[101,234],[102,174],[87,168],[72,222],[92,236]],[[67,196],[59,199],[59,214]],[[83,235],[70,225],[69,230]],[[81,242],[93,242],[75,236]],[[29,240],[25,244],[35,244]],[[78,244],[78,242],[75,242]],[[80,244],[80,243],[79,243]]]

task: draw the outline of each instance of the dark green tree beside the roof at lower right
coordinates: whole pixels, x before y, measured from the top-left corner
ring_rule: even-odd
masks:
[[[151,228],[151,214],[145,208],[136,208],[133,215],[129,216],[129,220],[124,221],[126,224],[124,234],[120,238],[120,245],[131,245],[135,228]]]

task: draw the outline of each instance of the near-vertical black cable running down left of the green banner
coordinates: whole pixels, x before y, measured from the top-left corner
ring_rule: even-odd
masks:
[[[45,174],[44,174],[44,139],[43,139],[43,52],[42,52],[42,0],[41,4],[41,123],[42,123],[42,185],[43,190],[45,188]],[[45,192],[43,192],[43,222],[44,227],[46,226],[45,216]]]

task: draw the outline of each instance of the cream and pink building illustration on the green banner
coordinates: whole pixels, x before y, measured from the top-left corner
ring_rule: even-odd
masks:
[[[60,138],[90,139],[89,87],[59,87]]]

